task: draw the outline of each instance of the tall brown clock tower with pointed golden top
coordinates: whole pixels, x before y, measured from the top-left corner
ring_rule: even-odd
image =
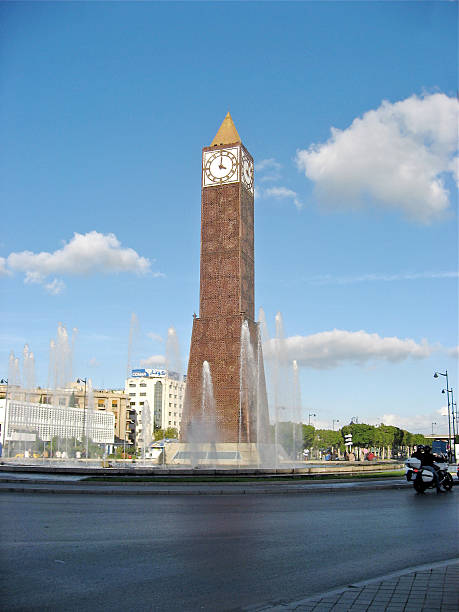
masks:
[[[243,327],[250,353],[257,360],[255,393],[246,388],[250,377],[243,375]],[[194,318],[191,337],[181,427],[184,442],[190,437],[193,418],[202,411],[204,361],[209,364],[213,382],[214,441],[261,442],[260,431],[267,431],[268,413],[266,401],[260,413],[256,397],[261,393],[266,399],[258,325],[254,321],[253,159],[229,113],[211,145],[202,150],[199,317]]]

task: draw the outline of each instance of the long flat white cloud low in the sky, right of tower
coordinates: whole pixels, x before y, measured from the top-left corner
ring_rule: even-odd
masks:
[[[276,340],[269,340],[263,349],[272,357]],[[347,363],[363,365],[369,361],[400,362],[408,358],[423,359],[432,352],[423,340],[420,344],[397,337],[381,338],[365,331],[350,332],[340,329],[320,332],[311,336],[291,336],[285,340],[287,358],[296,359],[298,365],[327,370]]]

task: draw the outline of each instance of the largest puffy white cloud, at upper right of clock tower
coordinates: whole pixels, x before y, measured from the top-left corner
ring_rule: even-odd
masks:
[[[324,144],[297,151],[298,168],[321,202],[340,208],[365,197],[430,223],[449,208],[444,177],[457,170],[458,103],[437,93],[416,95],[331,129]]]

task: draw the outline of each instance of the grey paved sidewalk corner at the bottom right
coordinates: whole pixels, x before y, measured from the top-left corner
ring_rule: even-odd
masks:
[[[457,612],[459,559],[411,568],[290,603],[245,612]]]

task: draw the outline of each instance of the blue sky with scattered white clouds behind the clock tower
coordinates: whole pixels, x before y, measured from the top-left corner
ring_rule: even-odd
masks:
[[[201,148],[230,110],[256,163],[256,307],[272,335],[283,315],[305,420],[444,430],[457,9],[3,3],[1,376],[27,343],[45,385],[62,322],[75,376],[122,387],[133,312],[133,365],[170,326],[186,362]]]

